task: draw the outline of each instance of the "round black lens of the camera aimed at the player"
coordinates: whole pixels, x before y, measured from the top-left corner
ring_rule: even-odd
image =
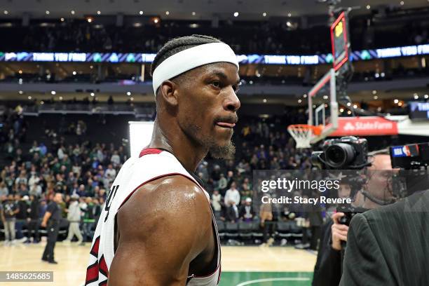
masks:
[[[346,167],[355,159],[355,149],[345,143],[337,143],[327,147],[326,163],[331,168],[339,169]]]

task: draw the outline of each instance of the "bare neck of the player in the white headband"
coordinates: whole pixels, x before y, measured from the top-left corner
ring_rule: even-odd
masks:
[[[206,148],[191,142],[177,123],[163,125],[158,121],[158,118],[155,120],[154,132],[149,148],[168,150],[182,163],[186,170],[191,172],[195,172],[198,164],[207,155],[208,151]]]

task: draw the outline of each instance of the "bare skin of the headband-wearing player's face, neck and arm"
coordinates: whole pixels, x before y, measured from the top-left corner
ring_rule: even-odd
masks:
[[[166,149],[186,170],[196,170],[208,151],[231,142],[239,81],[236,66],[224,62],[164,81],[149,148]],[[189,275],[217,268],[210,203],[186,177],[144,184],[118,210],[116,229],[109,286],[184,286]]]

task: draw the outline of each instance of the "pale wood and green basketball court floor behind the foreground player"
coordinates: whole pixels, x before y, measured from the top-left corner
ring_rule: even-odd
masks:
[[[82,286],[90,244],[57,243],[57,265],[41,261],[45,243],[0,246],[0,271],[53,271],[54,282],[32,285]],[[315,252],[293,247],[222,247],[221,286],[309,286]],[[0,282],[0,285],[29,285],[29,282]]]

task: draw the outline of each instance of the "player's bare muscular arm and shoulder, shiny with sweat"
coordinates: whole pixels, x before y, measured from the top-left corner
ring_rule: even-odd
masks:
[[[212,240],[205,193],[182,176],[145,184],[118,211],[109,286],[185,285],[189,263]]]

